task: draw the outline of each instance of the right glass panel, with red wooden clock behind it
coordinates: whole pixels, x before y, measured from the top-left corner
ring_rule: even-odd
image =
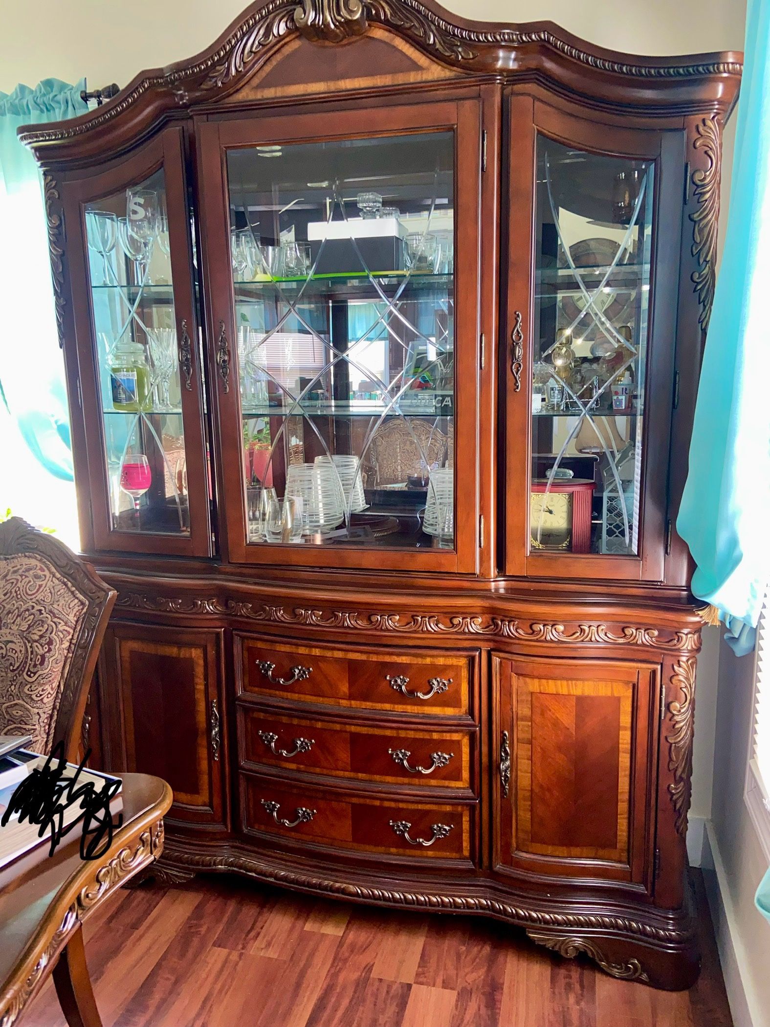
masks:
[[[532,551],[639,554],[653,172],[538,137]]]

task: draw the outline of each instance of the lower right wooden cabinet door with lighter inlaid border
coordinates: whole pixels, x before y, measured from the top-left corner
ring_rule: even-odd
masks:
[[[649,887],[658,669],[494,662],[497,869]]]

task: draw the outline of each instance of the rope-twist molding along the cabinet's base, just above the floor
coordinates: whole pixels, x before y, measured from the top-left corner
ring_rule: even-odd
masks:
[[[657,927],[642,920],[603,913],[546,913],[542,910],[513,906],[497,899],[484,896],[439,896],[421,891],[395,891],[389,888],[375,888],[351,882],[334,881],[316,875],[285,870],[265,863],[258,855],[235,855],[228,852],[201,854],[187,849],[166,846],[164,859],[153,873],[169,876],[185,873],[187,870],[228,871],[257,877],[260,880],[272,881],[275,884],[285,884],[326,895],[360,900],[361,902],[389,904],[396,906],[412,906],[415,908],[435,910],[437,912],[458,913],[491,913],[510,920],[517,920],[523,926],[533,924],[539,927],[567,927],[571,930],[604,930],[619,931],[634,935],[652,942],[665,945],[688,944],[694,938],[694,924],[685,929],[677,927]]]

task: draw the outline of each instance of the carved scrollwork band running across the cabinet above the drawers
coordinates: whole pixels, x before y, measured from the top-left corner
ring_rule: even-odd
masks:
[[[218,597],[149,596],[124,592],[117,605],[161,613],[230,616],[277,624],[324,627],[338,631],[391,632],[412,635],[482,635],[516,642],[555,642],[570,645],[638,645],[654,649],[696,652],[699,630],[660,631],[657,627],[619,626],[606,623],[545,623],[476,613],[362,613],[357,610],[320,610],[249,603]]]

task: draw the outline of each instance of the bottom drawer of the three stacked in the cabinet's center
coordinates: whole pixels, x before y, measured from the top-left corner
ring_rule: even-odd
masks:
[[[471,861],[474,804],[357,797],[243,773],[240,787],[247,834],[352,852]]]

